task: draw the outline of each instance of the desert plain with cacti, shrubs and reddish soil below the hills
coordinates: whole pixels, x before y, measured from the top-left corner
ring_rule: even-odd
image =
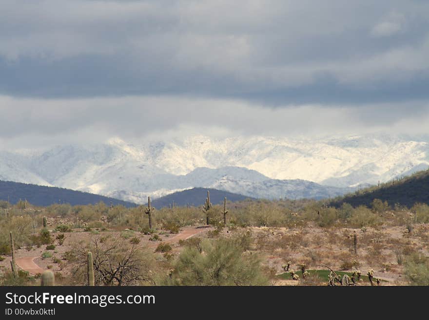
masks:
[[[0,284],[429,285],[427,203],[335,201],[1,201]]]

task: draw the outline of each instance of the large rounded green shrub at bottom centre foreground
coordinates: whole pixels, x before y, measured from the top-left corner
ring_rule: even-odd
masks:
[[[202,250],[186,247],[174,270],[165,280],[168,285],[266,285],[256,254],[245,252],[236,239],[204,240]]]

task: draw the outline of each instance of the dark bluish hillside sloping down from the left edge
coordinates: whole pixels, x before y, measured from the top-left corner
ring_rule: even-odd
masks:
[[[96,204],[100,201],[109,205],[123,205],[125,207],[134,207],[135,204],[114,198],[100,196],[88,192],[80,192],[64,188],[44,187],[29,185],[11,181],[0,180],[0,200],[8,200],[15,204],[20,199],[27,201],[35,206],[50,206],[54,203],[69,203],[72,206]]]

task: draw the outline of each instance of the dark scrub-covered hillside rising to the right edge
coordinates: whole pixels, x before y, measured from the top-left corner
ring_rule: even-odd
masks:
[[[390,206],[400,204],[412,207],[415,203],[429,204],[429,170],[419,171],[409,177],[391,181],[377,187],[356,191],[353,194],[335,199],[334,206],[347,202],[353,207],[370,206],[374,199],[387,201]]]

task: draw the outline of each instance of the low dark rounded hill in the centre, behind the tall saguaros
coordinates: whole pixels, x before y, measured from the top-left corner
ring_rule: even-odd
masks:
[[[232,202],[252,199],[250,197],[246,197],[241,194],[231,193],[228,191],[221,191],[210,188],[193,188],[189,190],[175,192],[166,195],[162,198],[158,198],[152,202],[152,206],[159,209],[162,207],[168,207],[169,205],[172,205],[173,202],[179,207],[184,207],[187,205],[195,207],[203,206],[204,201],[207,198],[207,190],[210,191],[210,201],[213,205],[223,203],[225,197],[227,197],[228,201]]]

